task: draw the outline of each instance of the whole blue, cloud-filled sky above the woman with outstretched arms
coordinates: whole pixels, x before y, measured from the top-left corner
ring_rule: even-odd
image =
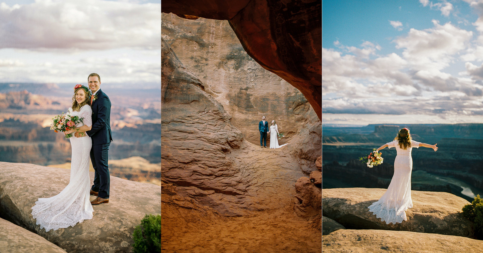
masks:
[[[483,0],[323,1],[323,122],[483,123]]]

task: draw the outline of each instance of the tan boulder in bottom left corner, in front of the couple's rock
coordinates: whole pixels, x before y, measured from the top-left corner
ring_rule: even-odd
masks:
[[[66,252],[45,238],[1,218],[0,238],[0,252]]]

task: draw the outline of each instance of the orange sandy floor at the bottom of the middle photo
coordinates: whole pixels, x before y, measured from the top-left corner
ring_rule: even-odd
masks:
[[[166,253],[319,253],[322,231],[298,217],[292,203],[283,209],[242,217],[199,219],[196,224],[170,223],[161,228]]]

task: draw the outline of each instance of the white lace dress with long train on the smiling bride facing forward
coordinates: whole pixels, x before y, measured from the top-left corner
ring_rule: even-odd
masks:
[[[80,112],[71,112],[72,116],[84,118],[84,124],[92,126],[92,110],[89,105]],[[82,127],[80,123],[76,127]],[[72,146],[71,179],[69,184],[56,196],[39,198],[32,207],[32,216],[37,219],[37,225],[51,229],[74,226],[78,222],[92,219],[90,203],[89,154],[92,141],[89,136],[71,137]]]

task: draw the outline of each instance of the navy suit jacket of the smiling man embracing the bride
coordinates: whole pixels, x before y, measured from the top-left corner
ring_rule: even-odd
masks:
[[[111,100],[99,90],[96,100],[92,101],[92,128],[87,135],[92,139],[92,145],[111,143]]]

